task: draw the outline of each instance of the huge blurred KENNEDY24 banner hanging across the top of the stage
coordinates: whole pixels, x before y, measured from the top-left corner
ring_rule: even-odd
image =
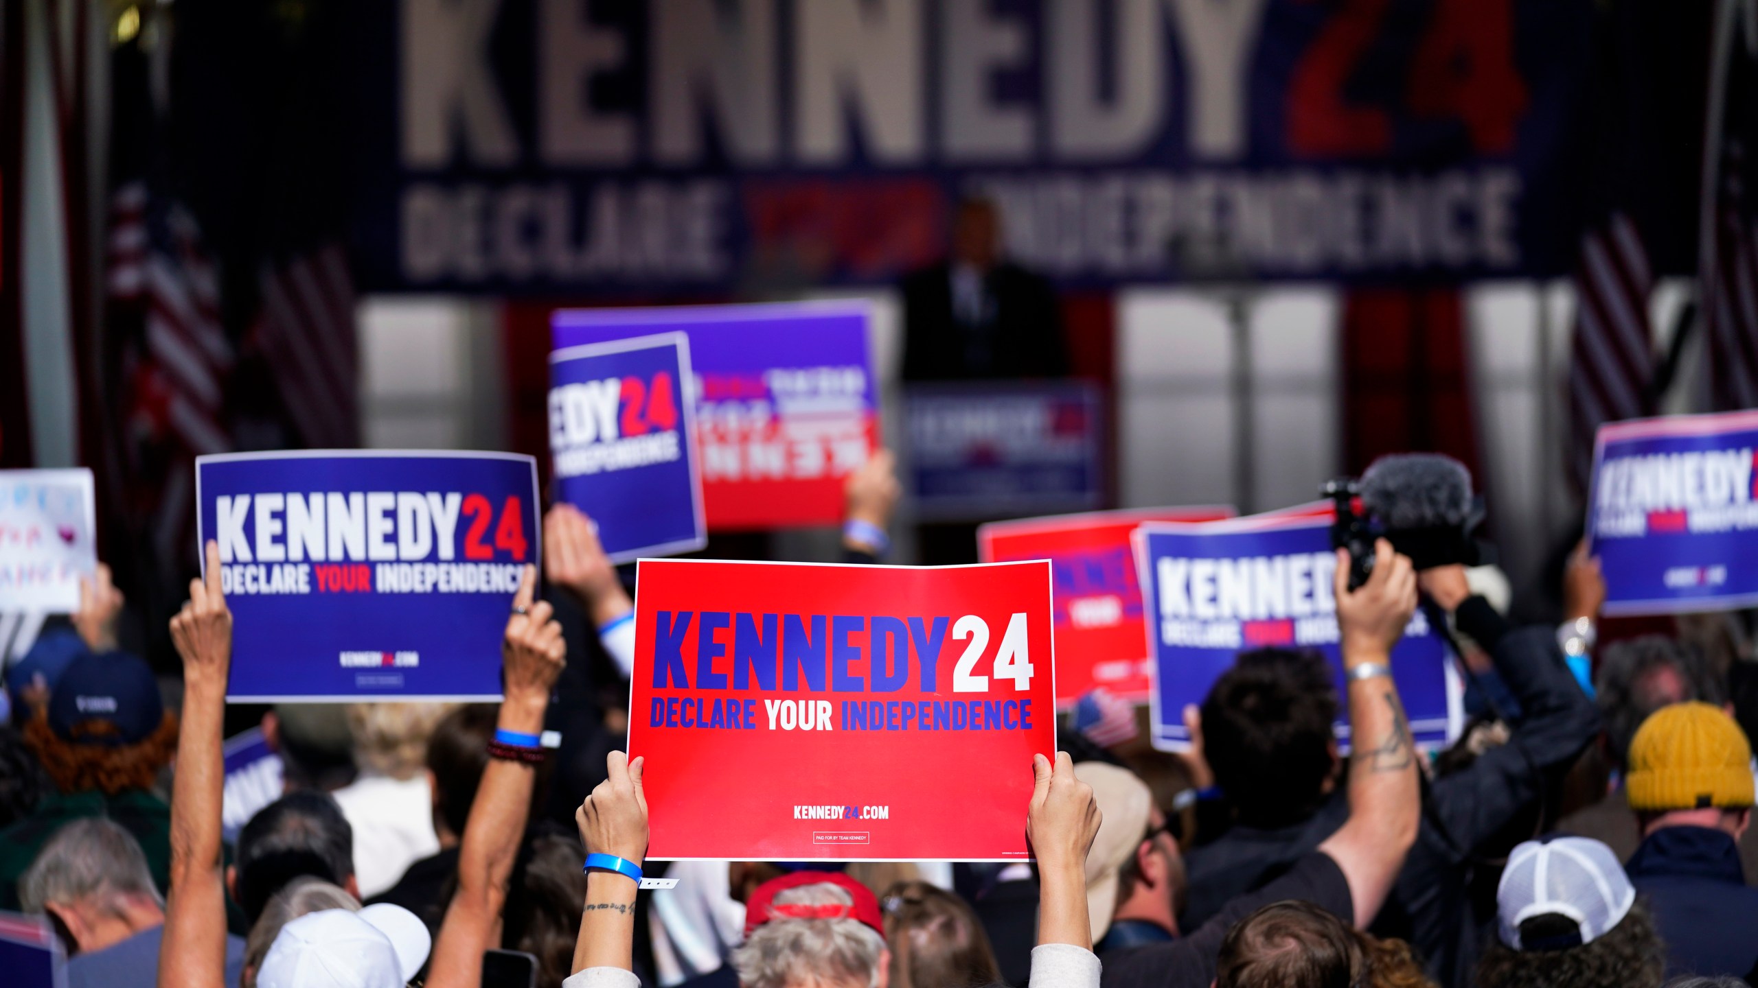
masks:
[[[357,4],[367,290],[1561,274],[1589,0]]]

